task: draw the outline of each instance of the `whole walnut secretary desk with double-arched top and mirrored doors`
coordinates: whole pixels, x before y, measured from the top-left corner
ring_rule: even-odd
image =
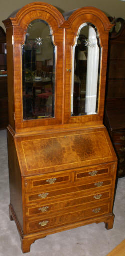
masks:
[[[42,2],[3,22],[9,210],[22,251],[36,239],[85,224],[112,228],[117,158],[103,125],[112,25],[94,7],[62,15]]]

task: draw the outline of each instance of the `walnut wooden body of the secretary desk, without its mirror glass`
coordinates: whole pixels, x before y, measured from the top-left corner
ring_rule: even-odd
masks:
[[[55,117],[24,121],[21,46],[29,23],[35,19],[50,25],[56,46]],[[101,45],[98,113],[71,117],[72,47],[84,22],[96,26]],[[103,109],[108,31],[112,25],[93,7],[80,8],[65,21],[55,7],[42,2],[27,4],[4,24],[9,212],[17,225],[22,251],[29,252],[36,239],[85,224],[104,222],[111,229],[117,158],[103,126]]]

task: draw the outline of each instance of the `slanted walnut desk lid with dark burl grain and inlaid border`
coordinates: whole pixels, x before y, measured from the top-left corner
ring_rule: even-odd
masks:
[[[15,138],[23,176],[116,160],[105,128]]]

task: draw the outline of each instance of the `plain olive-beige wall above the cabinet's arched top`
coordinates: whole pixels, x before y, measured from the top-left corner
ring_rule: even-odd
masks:
[[[37,0],[34,0],[37,1]],[[40,0],[39,0],[40,1]],[[120,0],[42,0],[60,9],[61,12],[69,11],[84,6],[94,6],[101,9],[108,16],[122,17],[125,19],[125,2]],[[14,10],[33,2],[33,0],[1,0],[0,1],[0,26],[4,29],[2,20],[6,19]]]

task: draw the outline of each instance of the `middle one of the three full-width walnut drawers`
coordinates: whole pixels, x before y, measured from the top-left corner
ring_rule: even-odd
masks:
[[[75,198],[75,199],[69,199],[69,200],[62,200],[58,203],[46,203],[46,204],[39,204],[37,207],[27,207],[26,209],[26,216],[28,217],[37,217],[40,215],[46,215],[46,214],[58,214],[58,210],[66,209],[69,207],[72,210],[72,207],[77,205],[85,205],[85,208],[87,207],[86,204],[90,202],[99,202],[102,200],[107,200],[111,198],[111,191],[101,192],[101,193],[94,193],[90,196],[83,196],[81,198]],[[56,200],[55,200],[56,201]]]

